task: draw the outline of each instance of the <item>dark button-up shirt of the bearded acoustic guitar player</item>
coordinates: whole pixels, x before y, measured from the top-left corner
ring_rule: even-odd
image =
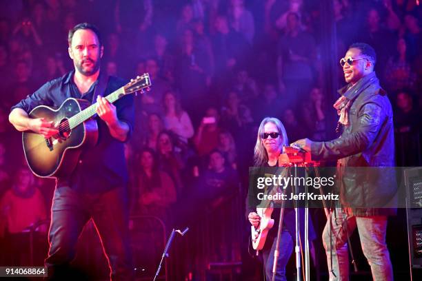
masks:
[[[67,98],[83,98],[92,103],[94,89],[99,83],[99,79],[92,84],[88,92],[81,94],[73,81],[73,75],[74,71],[47,82],[34,94],[14,105],[12,110],[21,108],[29,113],[38,105],[59,108]],[[102,96],[108,96],[123,85],[125,85],[123,79],[110,76],[106,91]],[[133,96],[130,94],[124,96],[114,105],[117,107],[119,121],[129,126],[129,138],[134,126]],[[76,169],[70,176],[58,178],[57,187],[66,185],[77,191],[97,193],[108,191],[114,187],[121,187],[128,183],[128,169],[125,163],[123,143],[111,136],[108,126],[99,116],[96,116],[95,119],[99,127],[97,145],[83,149]]]

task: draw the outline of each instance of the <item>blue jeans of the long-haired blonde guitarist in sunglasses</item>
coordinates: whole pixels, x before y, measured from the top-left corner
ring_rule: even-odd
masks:
[[[265,270],[265,280],[272,278],[272,265],[274,264],[274,251],[277,246],[277,236],[269,236],[262,249],[262,258]],[[293,239],[288,231],[281,231],[279,260],[277,261],[276,277],[277,281],[285,281],[285,266],[293,252]]]

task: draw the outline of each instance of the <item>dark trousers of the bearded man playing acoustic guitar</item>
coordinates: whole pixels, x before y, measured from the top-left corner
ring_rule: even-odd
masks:
[[[120,187],[101,194],[80,194],[70,187],[57,187],[52,202],[46,258],[52,280],[68,280],[77,240],[92,218],[110,267],[111,280],[132,280],[128,230],[128,194]],[[50,274],[51,273],[51,274]]]

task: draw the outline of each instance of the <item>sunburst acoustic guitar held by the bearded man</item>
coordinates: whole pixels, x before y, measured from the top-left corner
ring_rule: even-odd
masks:
[[[126,94],[141,92],[151,86],[148,73],[137,76],[128,84],[105,98],[114,103]],[[45,138],[41,134],[26,131],[22,134],[23,152],[32,172],[41,178],[67,176],[76,167],[82,147],[94,146],[98,141],[96,114],[97,104],[78,98],[68,98],[59,109],[46,105],[35,107],[28,116],[53,121],[59,134]]]

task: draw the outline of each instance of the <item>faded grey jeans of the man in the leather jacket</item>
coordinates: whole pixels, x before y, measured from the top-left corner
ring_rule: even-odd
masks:
[[[356,217],[335,209],[323,231],[323,244],[327,254],[330,280],[349,280],[348,237],[358,229],[361,247],[371,267],[374,281],[393,280],[392,265],[385,233],[386,216]]]

